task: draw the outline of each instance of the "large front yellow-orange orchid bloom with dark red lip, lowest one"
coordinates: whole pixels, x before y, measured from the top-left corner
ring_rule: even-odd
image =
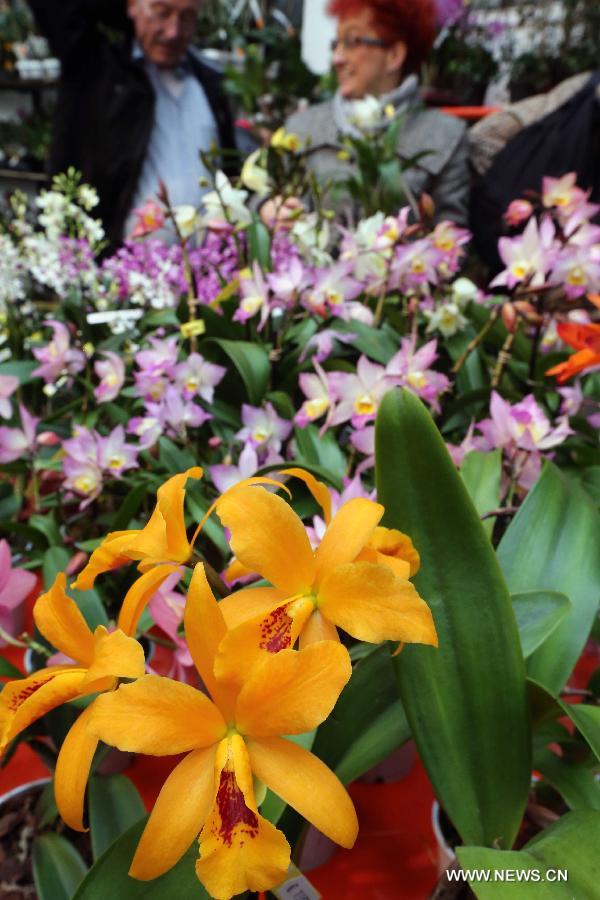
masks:
[[[259,811],[253,776],[344,847],[356,839],[356,813],[327,766],[281,735],[316,728],[351,673],[346,650],[325,641],[257,661],[243,685],[223,685],[214,661],[226,624],[199,563],[184,625],[188,647],[212,700],[187,684],[146,675],[99,697],[89,718],[96,738],[121,750],[187,753],[167,778],[130,875],[162,875],[198,837],[198,878],[217,900],[267,890],[285,877],[290,848]]]

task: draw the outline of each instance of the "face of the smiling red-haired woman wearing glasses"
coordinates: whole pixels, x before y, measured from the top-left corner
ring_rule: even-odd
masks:
[[[362,40],[364,44],[360,43]],[[334,44],[332,63],[340,93],[346,100],[367,94],[378,97],[400,83],[406,47],[400,41],[387,44],[381,40],[370,10],[340,19]]]

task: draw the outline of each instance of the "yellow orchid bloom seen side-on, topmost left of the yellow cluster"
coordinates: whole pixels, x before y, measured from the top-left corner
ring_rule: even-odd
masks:
[[[135,560],[140,572],[160,563],[185,563],[192,555],[193,541],[188,541],[183,506],[185,486],[189,478],[202,478],[199,466],[180,472],[158,489],[156,506],[147,525],[141,529],[113,531],[92,553],[72,587],[88,591],[98,575],[118,569]]]

